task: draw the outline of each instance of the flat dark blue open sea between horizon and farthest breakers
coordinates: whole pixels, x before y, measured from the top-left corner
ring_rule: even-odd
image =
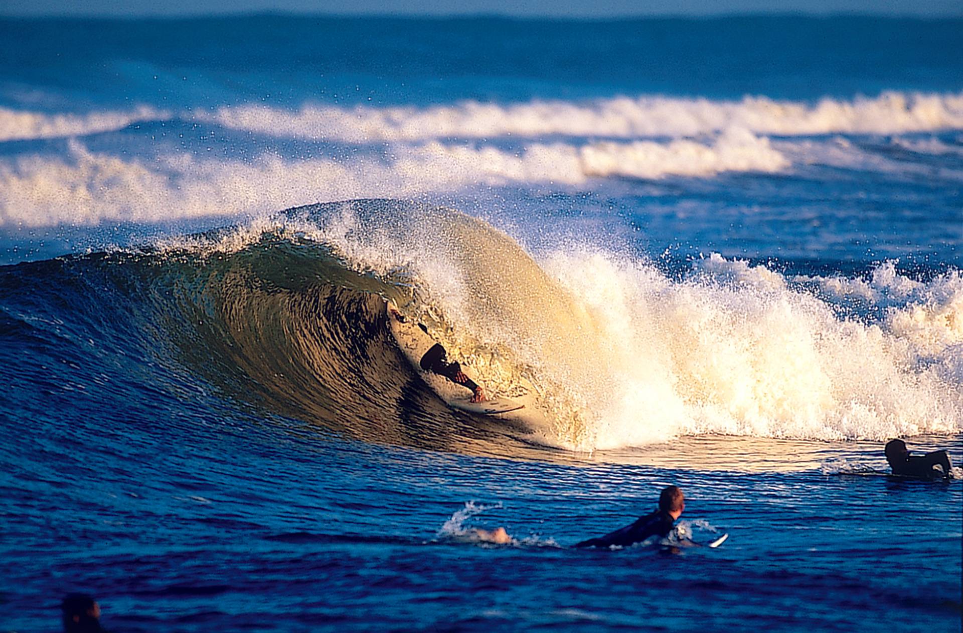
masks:
[[[959,90],[963,21],[255,15],[8,18],[0,29],[8,81],[92,93],[97,102],[192,107],[238,99],[299,106],[305,98],[406,104],[613,92],[805,99]]]

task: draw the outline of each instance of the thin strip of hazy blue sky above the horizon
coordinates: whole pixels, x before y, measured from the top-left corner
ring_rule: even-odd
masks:
[[[6,15],[197,15],[280,11],[444,15],[610,17],[725,13],[869,13],[924,17],[963,15],[960,0],[2,0]]]

